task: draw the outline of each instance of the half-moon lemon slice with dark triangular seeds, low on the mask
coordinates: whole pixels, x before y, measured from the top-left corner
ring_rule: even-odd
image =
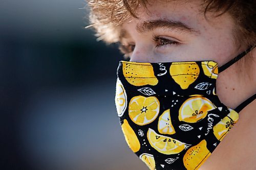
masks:
[[[155,150],[166,155],[178,154],[189,146],[171,137],[159,135],[151,128],[147,131],[147,139]]]

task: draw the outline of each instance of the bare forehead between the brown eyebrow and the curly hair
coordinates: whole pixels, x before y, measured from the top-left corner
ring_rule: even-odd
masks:
[[[204,15],[202,1],[151,1],[146,8],[139,6],[136,12],[138,18],[126,19],[123,22],[124,29],[136,29],[142,22],[156,19],[181,22],[199,33],[229,29],[233,26],[231,17],[226,13],[219,17],[215,17],[216,13],[211,12]]]

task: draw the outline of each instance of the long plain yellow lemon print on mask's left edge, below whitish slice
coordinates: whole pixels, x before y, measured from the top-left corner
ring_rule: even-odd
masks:
[[[135,132],[129,125],[126,119],[123,120],[123,124],[121,125],[125,140],[131,150],[133,152],[138,152],[140,150],[140,142],[139,139],[137,138]]]

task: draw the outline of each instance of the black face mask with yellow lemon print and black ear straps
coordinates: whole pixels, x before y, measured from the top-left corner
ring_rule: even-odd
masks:
[[[150,169],[198,169],[237,123],[255,94],[232,110],[216,95],[214,61],[120,61],[116,107],[125,140]]]

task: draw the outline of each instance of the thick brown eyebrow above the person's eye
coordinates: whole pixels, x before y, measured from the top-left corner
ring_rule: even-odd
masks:
[[[138,23],[136,26],[136,30],[139,33],[145,33],[154,31],[155,29],[170,29],[172,31],[178,31],[178,32],[190,32],[190,33],[196,33],[199,31],[194,30],[193,28],[188,27],[185,23],[180,21],[173,21],[173,20],[162,20],[162,19],[156,19],[156,20],[146,20],[141,23]]]

